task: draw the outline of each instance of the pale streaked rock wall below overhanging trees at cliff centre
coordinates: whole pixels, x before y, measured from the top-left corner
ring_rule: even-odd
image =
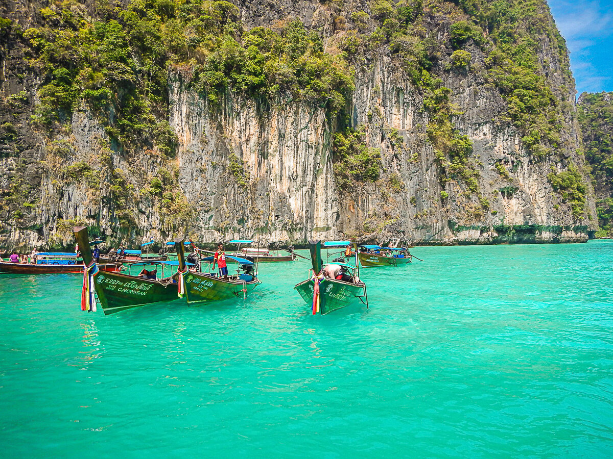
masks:
[[[206,242],[334,236],[338,201],[322,110],[238,98],[216,110],[180,81],[171,86],[181,190],[197,206]]]

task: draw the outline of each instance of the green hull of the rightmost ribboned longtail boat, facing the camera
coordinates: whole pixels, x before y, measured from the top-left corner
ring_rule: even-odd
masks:
[[[313,304],[313,279],[300,282],[294,289],[298,291],[305,303]],[[344,308],[349,305],[365,304],[362,296],[365,294],[364,283],[352,284],[324,278],[319,286],[319,312],[322,315]]]

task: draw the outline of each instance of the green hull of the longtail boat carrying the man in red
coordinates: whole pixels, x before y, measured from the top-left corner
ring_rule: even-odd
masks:
[[[243,295],[251,293],[260,283],[257,279],[245,283],[226,281],[197,272],[183,275],[183,282],[185,282],[185,296],[188,303],[243,298]]]

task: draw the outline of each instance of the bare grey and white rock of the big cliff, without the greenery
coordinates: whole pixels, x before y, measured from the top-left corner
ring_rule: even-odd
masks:
[[[323,35],[326,52],[333,54],[346,53],[344,43],[359,28],[354,13],[371,12],[371,4],[357,2],[237,6],[248,28],[300,17],[307,29]],[[44,23],[39,10],[53,4],[4,6],[2,17],[12,20],[12,28],[5,26],[2,35],[0,246],[69,245],[75,223],[93,226],[112,243],[140,242],[143,236],[161,240],[182,231],[202,242],[587,240],[595,229],[590,185],[584,209],[574,212],[547,178],[569,167],[584,177],[574,83],[558,43],[541,35],[538,66],[559,110],[559,142],[550,154],[536,156],[526,146],[526,133],[509,119],[513,100],[503,97],[484,70],[489,50],[468,40],[463,53],[470,67],[457,65],[460,54],[449,35],[466,15],[452,4],[443,6],[440,12],[427,10],[421,21],[428,39],[438,43],[429,72],[449,90],[454,135],[471,143],[460,175],[453,173],[460,166],[452,153],[441,154],[433,140],[436,112],[424,108],[432,95],[387,45],[364,45],[348,58],[355,89],[343,119],[331,118],[321,104],[287,95],[249,97],[231,87],[212,104],[194,87],[189,65],[170,65],[166,118],[176,134],[172,154],[164,154],[156,139],[122,147],[85,102],[60,120],[58,130],[45,132],[31,122],[44,81],[27,64],[31,51],[23,30]],[[77,9],[87,7],[75,2]],[[546,6],[541,13],[552,23]],[[365,21],[362,28],[377,30],[374,19]],[[345,129],[359,130],[360,141],[379,152],[375,181],[339,185],[333,138]]]

